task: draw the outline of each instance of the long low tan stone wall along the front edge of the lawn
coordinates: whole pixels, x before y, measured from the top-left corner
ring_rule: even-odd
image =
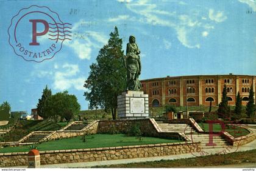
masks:
[[[144,158],[195,152],[199,143],[164,143],[140,146],[41,151],[41,165],[112,159]],[[27,166],[27,152],[0,153],[0,167]]]

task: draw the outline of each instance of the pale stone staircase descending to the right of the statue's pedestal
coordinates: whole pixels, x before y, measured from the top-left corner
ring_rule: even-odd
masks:
[[[208,133],[198,133],[196,130],[188,124],[169,124],[168,122],[157,121],[158,126],[162,132],[180,132],[184,133],[188,139],[194,142],[201,142],[202,149],[222,148],[229,147],[229,143],[221,136],[213,136],[213,143],[216,146],[207,146],[209,143]]]

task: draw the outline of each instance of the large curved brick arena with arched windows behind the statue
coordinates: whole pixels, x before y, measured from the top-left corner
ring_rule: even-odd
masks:
[[[240,92],[245,106],[249,90],[256,92],[256,76],[250,75],[195,75],[167,76],[141,80],[142,90],[149,95],[149,107],[174,106],[218,106],[224,84],[227,86],[229,105],[234,106],[236,94]],[[254,93],[255,99],[255,93]]]

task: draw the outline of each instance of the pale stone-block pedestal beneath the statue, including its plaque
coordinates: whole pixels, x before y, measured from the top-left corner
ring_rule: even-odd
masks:
[[[123,92],[118,96],[118,118],[149,118],[149,95],[140,91]]]

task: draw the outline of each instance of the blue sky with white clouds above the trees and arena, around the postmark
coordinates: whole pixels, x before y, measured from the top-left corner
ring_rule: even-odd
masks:
[[[9,44],[7,31],[13,16],[30,5],[47,6],[72,24],[71,40],[63,41],[54,58],[43,62],[24,60]],[[84,81],[115,26],[123,50],[129,36],[136,37],[141,50],[140,79],[256,75],[255,0],[0,0],[0,13],[0,103],[8,101],[12,111],[30,113],[46,85],[52,93],[68,90],[82,110],[88,109]],[[42,31],[43,25],[38,28]],[[32,32],[31,24],[20,29]],[[38,36],[41,44],[45,36]]]

